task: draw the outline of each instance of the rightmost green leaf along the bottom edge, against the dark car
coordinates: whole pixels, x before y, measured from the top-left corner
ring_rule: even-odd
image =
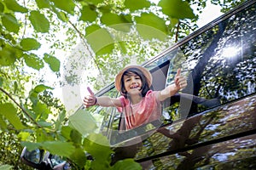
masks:
[[[113,170],[130,170],[130,169],[134,169],[134,170],[142,170],[143,167],[136,161],[134,161],[133,159],[125,159],[125,160],[121,160],[121,161],[117,161],[114,165],[113,165]]]

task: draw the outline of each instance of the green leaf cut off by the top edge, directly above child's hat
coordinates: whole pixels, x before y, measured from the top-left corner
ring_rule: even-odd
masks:
[[[149,8],[151,3],[147,0],[125,0],[125,7],[133,12],[138,9]]]

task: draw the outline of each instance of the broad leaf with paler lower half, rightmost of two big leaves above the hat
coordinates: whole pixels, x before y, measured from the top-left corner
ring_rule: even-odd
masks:
[[[165,20],[160,19],[155,14],[143,13],[141,17],[136,17],[137,31],[144,39],[157,38],[164,41],[168,35],[168,29]]]

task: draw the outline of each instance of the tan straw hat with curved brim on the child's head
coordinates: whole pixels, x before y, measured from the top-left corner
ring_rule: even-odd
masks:
[[[138,70],[142,71],[143,75],[147,79],[148,86],[149,87],[151,86],[151,84],[152,84],[152,75],[151,75],[151,73],[147,69],[145,69],[143,66],[139,66],[139,65],[129,65],[129,66],[126,66],[123,70],[119,71],[119,73],[115,77],[114,85],[115,85],[115,88],[118,91],[121,90],[121,78],[122,78],[124,72],[127,71],[130,68],[137,68]]]

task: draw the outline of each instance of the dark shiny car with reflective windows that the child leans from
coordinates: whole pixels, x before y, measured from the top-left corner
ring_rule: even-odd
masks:
[[[143,66],[153,89],[177,68],[188,87],[162,103],[162,117],[124,130],[122,114],[97,106],[113,163],[134,158],[144,169],[256,169],[256,1],[247,1]],[[114,85],[97,96],[118,96]]]

